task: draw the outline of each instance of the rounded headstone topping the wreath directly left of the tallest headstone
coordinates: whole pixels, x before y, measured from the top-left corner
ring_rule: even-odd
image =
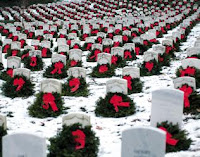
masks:
[[[106,93],[123,93],[127,94],[127,80],[110,79],[106,82]]]

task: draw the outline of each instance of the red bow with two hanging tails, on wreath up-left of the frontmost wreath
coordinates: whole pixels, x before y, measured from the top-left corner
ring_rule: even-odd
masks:
[[[53,96],[52,93],[46,93],[46,94],[43,95],[43,103],[44,104],[42,105],[42,107],[45,110],[48,110],[49,105],[50,105],[54,112],[58,111],[58,108],[57,108],[56,103],[55,103],[55,97]]]

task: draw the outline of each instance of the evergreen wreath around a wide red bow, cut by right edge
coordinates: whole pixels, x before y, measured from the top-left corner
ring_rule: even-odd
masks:
[[[194,68],[194,67],[192,67],[192,68]],[[195,80],[196,80],[196,86],[197,86],[197,88],[200,88],[200,70],[199,69],[196,69],[196,68],[194,68],[195,69],[195,74],[194,74],[194,76],[193,75],[185,75],[185,76],[190,76],[190,77],[194,77],[195,78]],[[183,67],[182,66],[180,66],[177,70],[176,70],[176,76],[177,77],[181,77],[181,71],[183,70]]]

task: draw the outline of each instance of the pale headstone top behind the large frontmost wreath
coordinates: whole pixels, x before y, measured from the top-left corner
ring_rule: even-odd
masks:
[[[82,127],[91,126],[90,116],[82,113],[70,113],[62,118],[62,124],[66,126],[79,123]]]

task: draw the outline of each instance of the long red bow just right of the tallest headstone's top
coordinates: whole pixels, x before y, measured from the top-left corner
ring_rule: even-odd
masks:
[[[187,85],[183,85],[179,89],[184,92],[184,106],[185,106],[185,108],[190,107],[189,96],[193,92],[192,88],[190,86],[188,87]]]

